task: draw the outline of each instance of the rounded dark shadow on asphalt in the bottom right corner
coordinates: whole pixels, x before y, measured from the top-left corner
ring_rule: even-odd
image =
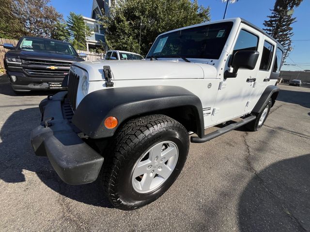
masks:
[[[309,167],[310,154],[306,154],[257,173],[240,197],[240,231],[309,231]]]

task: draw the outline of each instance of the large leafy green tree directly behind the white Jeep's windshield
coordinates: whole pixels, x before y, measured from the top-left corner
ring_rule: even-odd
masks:
[[[110,49],[146,55],[158,34],[210,21],[209,11],[197,0],[119,0],[101,19]]]

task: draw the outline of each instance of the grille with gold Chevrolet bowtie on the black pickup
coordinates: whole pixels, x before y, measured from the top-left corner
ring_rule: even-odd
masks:
[[[64,77],[69,73],[72,62],[42,59],[22,59],[25,74],[31,77]]]

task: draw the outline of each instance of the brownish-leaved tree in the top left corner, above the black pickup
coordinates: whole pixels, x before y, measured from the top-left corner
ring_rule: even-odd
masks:
[[[2,2],[3,1],[3,2]],[[0,33],[6,38],[23,35],[50,37],[55,24],[62,20],[50,0],[2,0]]]

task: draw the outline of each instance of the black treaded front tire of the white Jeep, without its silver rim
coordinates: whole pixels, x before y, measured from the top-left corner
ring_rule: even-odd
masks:
[[[139,193],[132,185],[132,174],[140,157],[153,145],[172,141],[178,148],[175,168],[167,180],[149,193]],[[100,174],[109,201],[116,208],[133,210],[158,199],[180,174],[188,154],[189,138],[182,124],[165,115],[141,116],[122,125],[103,152]]]

